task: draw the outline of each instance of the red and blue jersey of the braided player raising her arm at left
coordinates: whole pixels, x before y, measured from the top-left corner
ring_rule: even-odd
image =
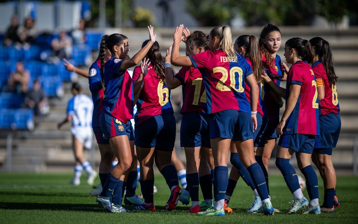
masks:
[[[120,70],[122,62],[113,57],[105,63],[103,106],[106,113],[127,123],[133,118],[133,82],[127,70]]]

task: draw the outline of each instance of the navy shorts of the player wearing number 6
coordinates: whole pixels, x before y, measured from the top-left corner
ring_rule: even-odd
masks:
[[[135,123],[134,144],[142,148],[173,151],[176,123],[174,114],[159,114],[137,126]]]

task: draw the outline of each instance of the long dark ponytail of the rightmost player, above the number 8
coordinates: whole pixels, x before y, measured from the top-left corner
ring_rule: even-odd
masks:
[[[334,72],[333,55],[329,43],[320,37],[310,39],[310,43],[314,55],[318,56],[326,70],[329,83],[335,85],[338,77]]]

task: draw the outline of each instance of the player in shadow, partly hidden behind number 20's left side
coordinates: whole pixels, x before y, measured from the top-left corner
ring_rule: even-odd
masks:
[[[190,55],[195,55],[209,49],[208,39],[200,36],[193,39],[190,44]],[[205,115],[206,92],[203,84],[203,78],[200,71],[193,67],[183,67],[175,76],[170,69],[171,47],[166,51],[165,79],[169,89],[183,85],[183,106],[180,110],[182,114],[182,123],[180,125],[180,146],[184,147],[185,157],[187,159],[187,183],[192,199],[192,207],[187,213],[200,212],[199,205],[199,164],[200,164],[200,147],[207,150],[210,147],[208,120]],[[209,179],[209,183],[211,179]],[[209,184],[211,186],[211,184]],[[210,187],[212,192],[212,187]],[[207,192],[205,192],[207,193]],[[207,195],[204,199],[208,200]],[[212,195],[206,201],[202,209],[208,209],[212,206]],[[205,200],[204,200],[205,202]]]

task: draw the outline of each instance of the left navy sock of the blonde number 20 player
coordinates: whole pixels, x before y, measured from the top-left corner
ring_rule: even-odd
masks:
[[[214,200],[225,199],[227,182],[229,179],[227,166],[217,166],[214,172]]]

